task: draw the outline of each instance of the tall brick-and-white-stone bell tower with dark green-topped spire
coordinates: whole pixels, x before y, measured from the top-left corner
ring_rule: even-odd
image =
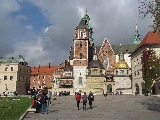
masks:
[[[73,71],[74,82],[73,87],[76,91],[82,90],[86,86],[87,67],[89,64],[89,49],[93,44],[92,29],[89,26],[89,16],[87,11],[80,20],[79,25],[75,29],[74,37],[74,57]]]

